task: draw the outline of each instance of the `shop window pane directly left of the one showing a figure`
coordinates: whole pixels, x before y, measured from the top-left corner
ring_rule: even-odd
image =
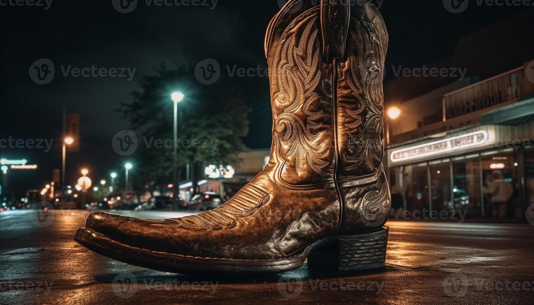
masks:
[[[453,168],[453,202],[454,210],[467,212],[473,217],[482,217],[482,190],[480,160],[458,160]]]

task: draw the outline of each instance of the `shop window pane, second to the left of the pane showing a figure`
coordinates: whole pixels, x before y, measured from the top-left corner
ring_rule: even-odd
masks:
[[[433,210],[452,210],[450,162],[430,165],[430,199]]]

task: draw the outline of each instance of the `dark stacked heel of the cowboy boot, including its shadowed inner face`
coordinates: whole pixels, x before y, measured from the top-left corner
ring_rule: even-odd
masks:
[[[337,271],[384,268],[389,227],[354,235],[338,236],[332,244],[308,255],[310,268],[336,269]]]

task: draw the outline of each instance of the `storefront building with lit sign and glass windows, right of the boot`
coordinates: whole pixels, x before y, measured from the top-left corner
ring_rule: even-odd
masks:
[[[389,122],[384,161],[391,192],[402,198],[394,208],[524,219],[534,204],[530,65],[446,93],[439,122],[409,131]]]

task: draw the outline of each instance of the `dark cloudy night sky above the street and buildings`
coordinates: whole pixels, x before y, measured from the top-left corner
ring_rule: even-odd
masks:
[[[382,2],[382,1],[381,1]],[[389,30],[387,67],[417,67],[448,56],[459,37],[472,33],[525,7],[477,6],[452,14],[439,0],[383,0],[380,11]],[[376,3],[376,1],[374,2]],[[2,72],[0,139],[54,139],[49,152],[1,149],[0,157],[26,158],[38,170],[10,176],[17,189],[41,189],[60,168],[61,110],[81,113],[81,152],[67,155],[67,181],[88,167],[95,179],[120,170],[124,157],[114,153],[112,136],[128,128],[114,110],[131,100],[143,74],[153,74],[160,62],[196,66],[206,58],[226,65],[266,67],[263,39],[279,10],[276,0],[220,0],[216,6],[147,6],[117,12],[111,0],[52,1],[48,10],[36,6],[0,6]],[[46,85],[34,83],[30,65],[48,58],[56,77]],[[63,77],[60,65],[72,67],[136,68],[131,81],[111,77]],[[386,80],[391,79],[388,73]],[[226,72],[223,72],[226,73]],[[271,114],[266,77],[230,77],[252,106],[246,143],[269,147]],[[202,84],[198,84],[202,89]],[[186,102],[186,100],[184,100]],[[171,111],[172,103],[162,111]],[[135,160],[134,160],[135,161]]]

